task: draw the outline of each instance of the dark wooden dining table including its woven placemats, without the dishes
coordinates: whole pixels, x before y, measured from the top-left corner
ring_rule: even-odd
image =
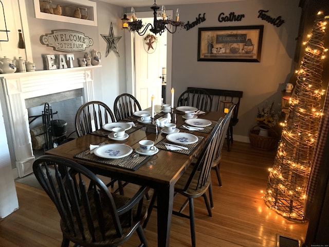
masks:
[[[151,108],[145,109],[150,111]],[[154,119],[161,120],[167,116],[167,112],[161,111],[160,105],[154,107]],[[141,186],[148,186],[157,191],[157,242],[158,246],[169,246],[170,228],[172,219],[172,209],[174,201],[174,186],[187,167],[191,164],[193,157],[202,149],[215,123],[224,116],[220,112],[201,112],[195,115],[195,119],[207,119],[211,122],[210,126],[203,130],[190,131],[182,127],[187,125],[184,118],[184,111],[172,110],[172,116],[175,116],[176,128],[179,133],[190,133],[197,136],[198,141],[191,145],[181,145],[188,147],[188,150],[168,150],[165,143],[167,134],[163,133],[159,127],[152,123],[143,123],[140,121],[138,114],[120,120],[120,122],[133,122],[134,127],[127,130],[128,138],[115,140],[109,138],[111,133],[104,129],[86,134],[71,140],[70,142],[59,145],[50,149],[45,154],[56,155],[76,161],[96,174],[106,176],[111,179],[117,179],[128,183]],[[175,115],[173,115],[175,114]],[[158,121],[159,122],[159,121]],[[139,147],[139,141],[149,139],[155,143],[157,152],[154,155],[139,155],[135,158],[133,154]],[[109,159],[96,156],[90,152],[89,146],[102,144],[125,144],[135,150],[129,156],[131,160],[139,160],[139,164],[123,166],[129,164],[126,160],[118,162],[120,159]],[[123,157],[124,159],[126,157]],[[115,160],[115,161],[113,161]],[[132,162],[133,163],[133,162]]]

